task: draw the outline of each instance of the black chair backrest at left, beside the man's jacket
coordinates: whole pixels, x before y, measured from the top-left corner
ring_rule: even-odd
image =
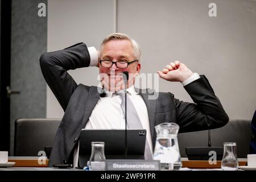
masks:
[[[14,156],[38,156],[52,146],[61,119],[16,119]]]

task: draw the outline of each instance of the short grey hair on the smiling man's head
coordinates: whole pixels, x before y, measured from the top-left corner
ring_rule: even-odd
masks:
[[[133,46],[133,49],[134,49],[134,57],[135,59],[137,59],[138,61],[141,60],[141,48],[139,47],[139,44],[129,38],[128,35],[126,34],[122,34],[122,33],[114,33],[114,34],[110,34],[108,35],[101,43],[101,47],[100,47],[100,54],[101,54],[101,51],[102,51],[102,48],[103,46],[109,42],[110,40],[129,40],[131,42],[131,46]]]

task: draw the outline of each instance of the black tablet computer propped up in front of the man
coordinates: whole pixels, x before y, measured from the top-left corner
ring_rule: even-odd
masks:
[[[81,130],[79,167],[86,166],[92,152],[92,142],[105,142],[106,159],[125,159],[125,130]],[[144,159],[145,129],[127,129],[127,159]]]

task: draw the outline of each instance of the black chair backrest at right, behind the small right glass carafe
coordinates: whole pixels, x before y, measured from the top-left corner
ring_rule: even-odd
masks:
[[[250,150],[251,136],[250,120],[231,120],[224,127],[211,130],[212,147],[223,147],[224,142],[236,142],[237,157],[247,158]],[[180,133],[178,134],[178,142],[181,157],[187,158],[185,147],[208,146],[208,130]]]

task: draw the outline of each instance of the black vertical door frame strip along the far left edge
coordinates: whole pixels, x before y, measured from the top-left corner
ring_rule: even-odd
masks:
[[[1,0],[0,32],[0,151],[10,150],[11,0]],[[10,152],[10,151],[9,151]]]

